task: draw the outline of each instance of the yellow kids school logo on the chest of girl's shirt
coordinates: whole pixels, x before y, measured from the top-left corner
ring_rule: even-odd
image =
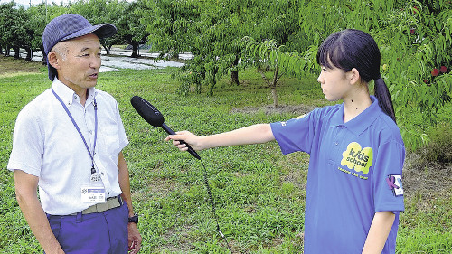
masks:
[[[369,173],[369,168],[372,166],[373,161],[372,147],[362,148],[360,144],[352,142],[348,144],[347,150],[342,155],[341,165],[346,165],[356,172]]]

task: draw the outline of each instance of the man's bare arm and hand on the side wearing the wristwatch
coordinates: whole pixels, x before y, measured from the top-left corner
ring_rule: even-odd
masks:
[[[121,188],[121,197],[128,206],[128,217],[134,215],[134,208],[132,206],[132,194],[130,193],[130,179],[128,175],[128,167],[124,155],[122,152],[118,156],[118,181],[119,187]],[[130,254],[137,253],[141,248],[141,235],[138,231],[137,224],[128,223],[128,249],[131,250]]]

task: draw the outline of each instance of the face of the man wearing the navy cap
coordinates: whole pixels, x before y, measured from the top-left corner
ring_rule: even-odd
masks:
[[[59,42],[55,47],[59,61],[58,80],[76,92],[96,86],[100,68],[100,42],[94,33]]]

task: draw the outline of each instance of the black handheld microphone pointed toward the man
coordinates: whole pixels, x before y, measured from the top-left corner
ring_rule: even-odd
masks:
[[[132,99],[130,99],[130,103],[135,108],[135,110],[137,110],[138,114],[151,126],[162,127],[169,135],[175,134],[175,132],[170,127],[165,125],[165,118],[162,113],[160,113],[160,111],[152,106],[151,103],[149,103],[146,99],[143,99],[139,96],[134,96],[132,97]],[[196,151],[193,150],[192,146],[188,145],[183,140],[178,141],[181,142],[181,144],[187,145],[188,152],[193,155],[193,157],[201,160],[201,157],[196,153]]]

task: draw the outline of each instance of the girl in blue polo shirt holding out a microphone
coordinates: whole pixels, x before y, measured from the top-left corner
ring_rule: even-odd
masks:
[[[212,136],[177,132],[180,150],[277,140],[283,154],[310,155],[306,187],[305,253],[395,253],[404,210],[405,148],[380,75],[380,51],[367,33],[333,33],[317,52],[318,81],[329,101],[287,122],[259,124]],[[374,80],[375,96],[368,83]]]

